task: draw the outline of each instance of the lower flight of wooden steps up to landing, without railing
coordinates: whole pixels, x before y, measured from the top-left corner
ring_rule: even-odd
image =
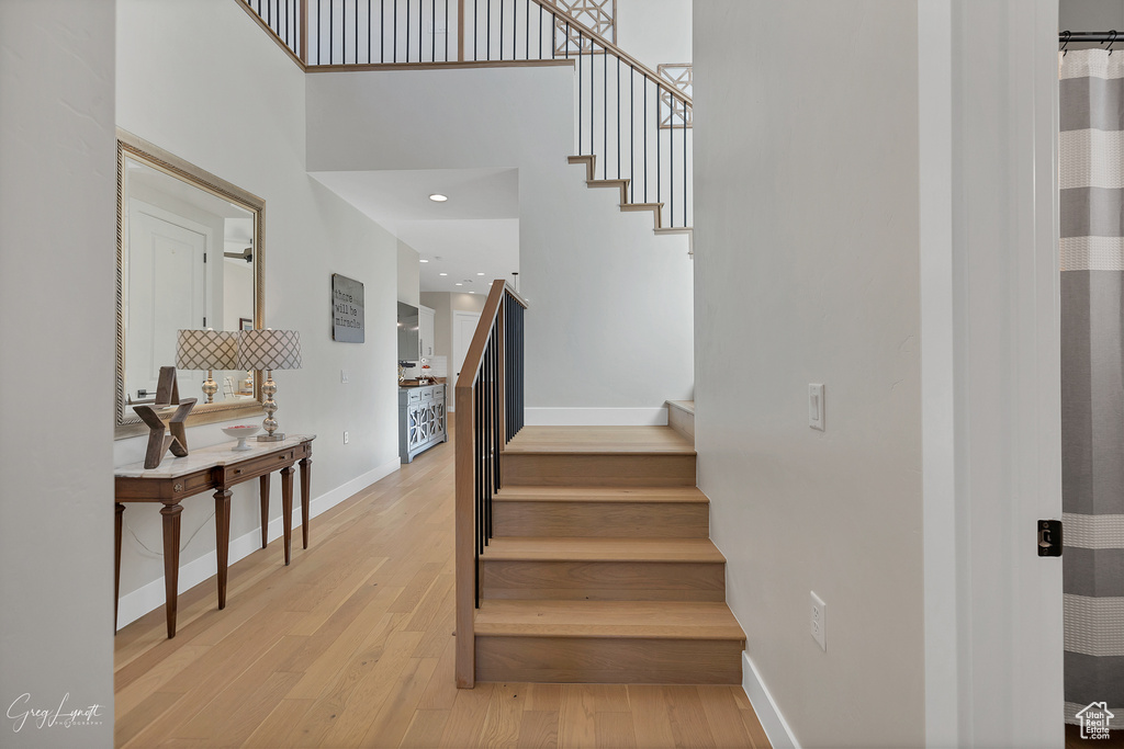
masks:
[[[670,427],[525,427],[480,557],[475,678],[738,684],[745,636]]]

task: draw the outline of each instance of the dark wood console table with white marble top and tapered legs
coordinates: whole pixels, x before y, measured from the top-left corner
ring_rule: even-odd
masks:
[[[250,440],[251,449],[236,453],[235,442],[196,449],[182,458],[167,457],[156,468],[134,463],[114,471],[116,522],[116,563],[114,567],[114,622],[121,578],[123,502],[160,502],[164,526],[164,610],[167,637],[175,637],[175,612],[180,574],[180,502],[203,492],[215,492],[215,547],[218,554],[218,608],[226,608],[226,573],[230,547],[230,487],[257,478],[261,488],[262,548],[269,526],[270,474],[281,472],[281,510],[284,522],[284,563],[292,542],[292,474],[300,464],[301,535],[308,548],[308,502],[312,440],[316,435],[292,435],[280,442]]]

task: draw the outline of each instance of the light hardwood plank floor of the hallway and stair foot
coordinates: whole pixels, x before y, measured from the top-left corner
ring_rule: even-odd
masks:
[[[118,632],[117,746],[769,747],[736,686],[457,689],[452,442],[311,530],[233,565],[224,611],[181,595],[174,639],[163,609]]]

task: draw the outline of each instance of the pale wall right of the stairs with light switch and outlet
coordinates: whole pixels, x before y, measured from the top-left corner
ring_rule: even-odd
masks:
[[[698,2],[694,22],[696,448],[727,600],[801,746],[918,746],[916,4]]]

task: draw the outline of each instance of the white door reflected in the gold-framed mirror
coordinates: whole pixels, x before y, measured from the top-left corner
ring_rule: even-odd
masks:
[[[134,401],[156,392],[160,367],[175,364],[175,337],[167,331],[207,327],[207,227],[132,201],[129,210],[128,309],[125,390]],[[206,373],[178,373],[191,398]]]

